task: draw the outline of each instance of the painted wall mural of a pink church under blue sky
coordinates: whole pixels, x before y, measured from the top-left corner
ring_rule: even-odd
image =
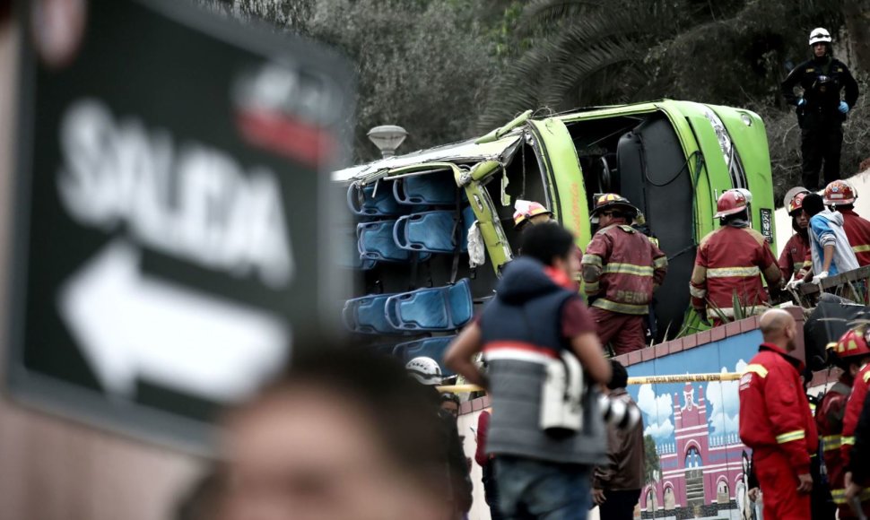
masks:
[[[630,376],[740,372],[758,351],[753,331],[628,367]],[[742,518],[737,381],[629,386],[643,412],[643,518]],[[655,452],[655,455],[651,453]]]

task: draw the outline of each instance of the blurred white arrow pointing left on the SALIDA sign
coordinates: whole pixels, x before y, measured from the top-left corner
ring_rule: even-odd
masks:
[[[139,252],[105,247],[58,295],[91,368],[112,394],[136,377],[220,403],[238,400],[283,364],[290,330],[264,311],[141,276]]]

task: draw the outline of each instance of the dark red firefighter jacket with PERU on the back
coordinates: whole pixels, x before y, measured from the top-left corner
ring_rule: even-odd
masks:
[[[582,267],[587,295],[598,297],[592,307],[645,315],[653,290],[665,280],[667,257],[643,233],[613,224],[593,236]]]

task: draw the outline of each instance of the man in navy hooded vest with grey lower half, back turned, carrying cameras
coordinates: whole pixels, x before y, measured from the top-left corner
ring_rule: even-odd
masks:
[[[523,256],[505,267],[495,299],[445,356],[448,367],[492,395],[486,452],[494,455],[499,508],[507,518],[586,518],[591,469],[606,462],[605,425],[592,385],[581,386],[577,396],[579,429],[557,433],[542,426],[542,411],[552,405],[544,394],[553,365],[579,362],[593,384],[611,375],[595,322],[578,292],[563,284],[574,279],[574,247],[573,235],[560,225],[526,230]],[[489,365],[486,376],[472,361],[479,351]]]

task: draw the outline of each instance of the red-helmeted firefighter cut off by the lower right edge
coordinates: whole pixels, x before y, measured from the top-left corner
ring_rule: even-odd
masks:
[[[838,355],[842,356],[845,360],[844,365],[848,364],[848,367],[844,369],[854,378],[852,392],[848,395],[848,401],[846,402],[846,413],[843,416],[842,440],[840,442],[840,459],[844,467],[847,467],[849,463],[849,455],[852,446],[855,444],[855,429],[858,417],[861,415],[861,407],[864,406],[867,386],[870,386],[870,347],[867,344],[867,332],[865,327],[858,328],[855,331],[848,331],[837,342]],[[840,354],[840,351],[845,353]],[[841,500],[841,503],[846,504],[845,490],[831,491],[831,494],[834,497],[834,501]],[[870,516],[870,491],[862,493],[860,498],[864,515]]]

